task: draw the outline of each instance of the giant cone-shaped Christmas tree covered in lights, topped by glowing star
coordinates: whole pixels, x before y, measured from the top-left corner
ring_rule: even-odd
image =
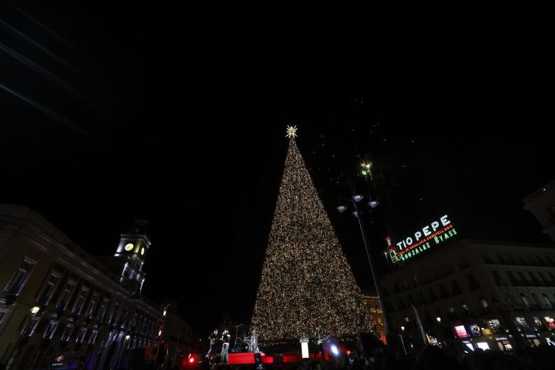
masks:
[[[297,144],[290,137],[252,326],[261,342],[309,337],[314,327],[346,337],[374,332],[374,320]]]

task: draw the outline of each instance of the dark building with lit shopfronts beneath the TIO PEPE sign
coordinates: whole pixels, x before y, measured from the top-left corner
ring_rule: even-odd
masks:
[[[555,345],[555,248],[463,239],[405,260],[382,277],[407,351]],[[422,329],[421,329],[422,328]]]

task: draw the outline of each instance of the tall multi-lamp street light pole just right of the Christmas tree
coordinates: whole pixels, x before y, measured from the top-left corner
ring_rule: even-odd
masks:
[[[353,204],[353,211],[352,211],[352,215],[356,218],[356,221],[359,224],[359,229],[361,232],[361,236],[362,236],[362,241],[364,243],[364,248],[366,249],[366,257],[368,257],[368,263],[370,265],[370,271],[372,273],[372,278],[374,279],[374,286],[376,287],[376,293],[378,295],[378,301],[379,301],[379,305],[380,305],[380,309],[381,312],[383,314],[384,317],[384,327],[386,329],[386,338],[388,339],[388,343],[391,343],[391,334],[393,333],[393,331],[391,330],[391,327],[389,327],[389,320],[388,320],[388,312],[386,310],[386,307],[384,305],[384,295],[382,294],[381,291],[381,285],[379,283],[378,280],[378,275],[376,273],[376,263],[374,261],[374,255],[372,255],[371,250],[370,250],[370,246],[369,246],[369,240],[368,240],[368,236],[366,236],[366,229],[364,228],[364,223],[363,223],[363,216],[362,216],[362,212],[361,212],[361,208],[359,203],[361,201],[363,201],[365,198],[367,199],[367,204],[370,208],[376,208],[377,206],[379,206],[379,201],[377,199],[372,199],[371,196],[363,196],[361,194],[356,194],[356,192],[354,191],[354,186],[352,186],[351,181],[349,181],[349,188],[351,190],[351,199],[347,199],[342,197],[342,199],[344,199],[344,201],[348,201],[350,203]],[[347,206],[344,206],[343,204],[339,204],[339,206],[337,206],[337,211],[339,211],[339,213],[343,213],[344,211],[347,211]]]

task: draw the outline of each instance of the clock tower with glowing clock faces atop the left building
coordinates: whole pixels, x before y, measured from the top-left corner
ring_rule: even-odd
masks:
[[[144,283],[142,265],[150,248],[148,226],[148,221],[142,218],[136,220],[132,231],[120,234],[120,244],[114,254],[114,258],[120,261],[120,283],[134,294],[142,290]]]

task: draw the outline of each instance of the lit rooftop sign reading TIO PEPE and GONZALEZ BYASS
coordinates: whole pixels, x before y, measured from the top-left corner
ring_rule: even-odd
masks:
[[[386,238],[387,254],[393,263],[408,260],[409,258],[421,253],[434,245],[438,245],[449,238],[456,236],[457,230],[448,216],[442,216],[439,221],[433,221],[415,231],[411,236],[404,238],[398,243],[392,243],[391,238]]]

